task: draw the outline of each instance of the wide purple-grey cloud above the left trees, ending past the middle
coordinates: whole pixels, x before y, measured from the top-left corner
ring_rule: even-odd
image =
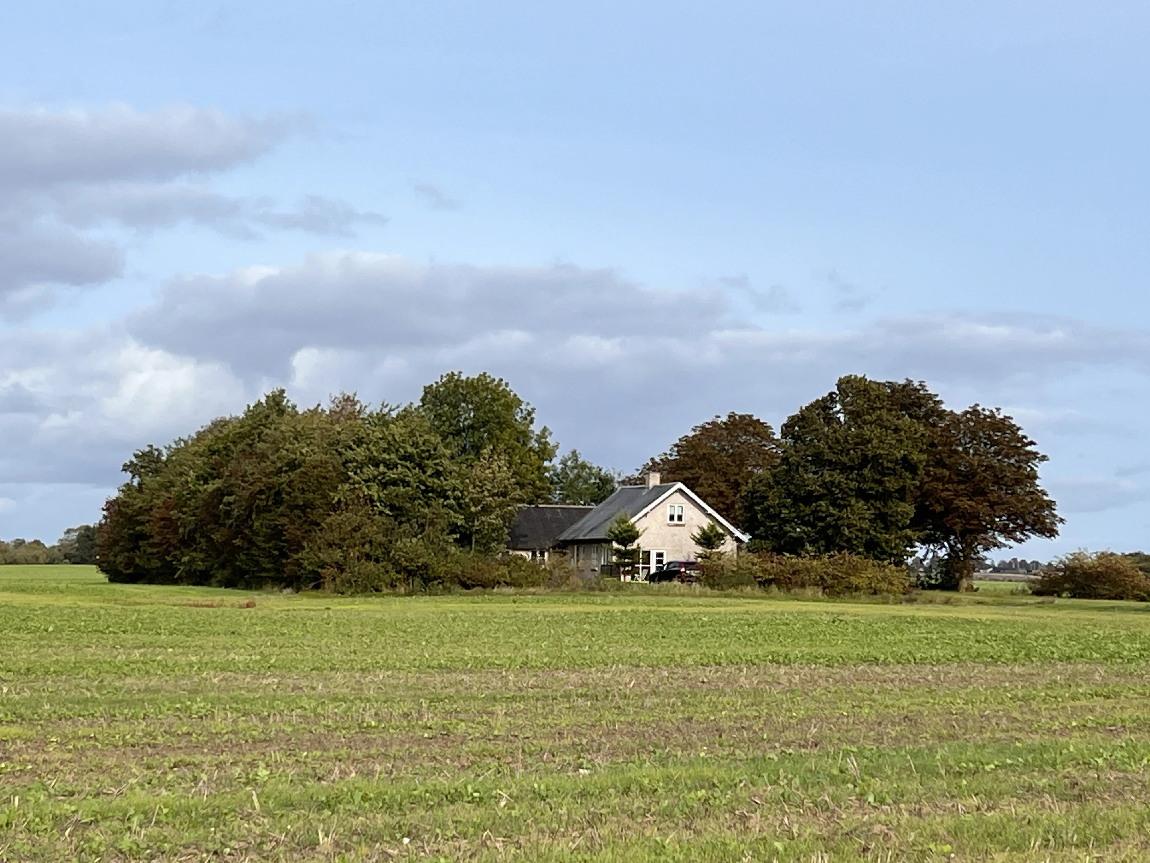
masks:
[[[549,343],[636,333],[690,341],[726,313],[718,290],[652,291],[613,270],[425,266],[337,253],[281,269],[176,280],[128,326],[151,344],[227,361],[245,375],[283,375],[305,346],[465,350],[476,337],[516,331]]]

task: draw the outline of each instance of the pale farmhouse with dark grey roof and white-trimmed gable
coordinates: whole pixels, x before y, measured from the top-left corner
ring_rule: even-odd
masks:
[[[572,562],[584,572],[598,571],[612,559],[612,542],[607,528],[626,512],[641,530],[638,578],[645,579],[672,560],[693,560],[699,548],[691,534],[710,522],[727,534],[722,551],[735,551],[738,543],[751,537],[712,510],[682,482],[660,482],[657,473],[647,474],[645,486],[623,486],[583,518],[559,535]]]

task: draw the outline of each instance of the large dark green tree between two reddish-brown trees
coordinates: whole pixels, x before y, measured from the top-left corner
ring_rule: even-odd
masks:
[[[905,562],[917,541],[911,519],[926,432],[897,410],[885,385],[839,377],[833,392],[783,423],[781,438],[779,461],[742,498],[759,548]]]

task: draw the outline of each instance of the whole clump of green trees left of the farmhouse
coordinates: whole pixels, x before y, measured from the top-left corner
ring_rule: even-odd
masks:
[[[417,403],[375,410],[348,395],[299,410],[276,390],[136,452],[105,506],[99,566],[113,581],[227,587],[445,582],[461,553],[497,551],[524,504],[614,490],[576,452],[553,468],[555,452],[488,374],[446,374]]]

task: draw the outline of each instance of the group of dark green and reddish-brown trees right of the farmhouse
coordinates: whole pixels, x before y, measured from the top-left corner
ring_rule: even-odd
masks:
[[[902,565],[940,552],[929,587],[965,589],[992,549],[1052,537],[1046,457],[999,410],[949,410],[921,382],[841,377],[776,437],[749,415],[696,426],[642,471],[681,480],[760,550]]]

